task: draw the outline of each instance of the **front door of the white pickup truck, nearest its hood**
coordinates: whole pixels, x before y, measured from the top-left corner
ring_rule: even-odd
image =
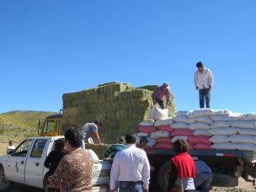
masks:
[[[6,177],[12,181],[24,183],[24,170],[26,158],[29,153],[29,147],[32,140],[24,140],[15,150],[9,155]]]

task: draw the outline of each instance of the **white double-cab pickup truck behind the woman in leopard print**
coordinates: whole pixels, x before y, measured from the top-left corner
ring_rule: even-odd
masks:
[[[44,166],[45,158],[55,149],[59,138],[63,136],[29,137],[11,154],[0,156],[0,191],[8,190],[13,183],[27,184],[46,191],[48,168]],[[94,161],[93,191],[107,191],[110,168],[108,161]]]

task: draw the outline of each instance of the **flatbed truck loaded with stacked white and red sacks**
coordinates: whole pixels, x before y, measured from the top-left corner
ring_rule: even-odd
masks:
[[[173,142],[179,138],[188,141],[189,153],[205,161],[213,173],[256,178],[255,113],[242,115],[229,110],[196,109],[179,111],[170,118],[164,116],[161,109],[157,110],[158,115],[153,116],[162,118],[141,121],[138,137],[147,137],[145,150],[157,168],[155,179],[163,189],[168,184]]]

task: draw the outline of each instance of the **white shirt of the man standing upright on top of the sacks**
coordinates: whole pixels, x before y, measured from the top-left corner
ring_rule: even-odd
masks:
[[[208,68],[204,68],[203,72],[196,71],[194,75],[194,83],[195,87],[199,89],[209,88],[209,85],[213,85],[213,76],[211,74],[211,70]]]

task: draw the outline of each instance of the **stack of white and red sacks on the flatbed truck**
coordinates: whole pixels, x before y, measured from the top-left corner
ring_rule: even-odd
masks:
[[[183,138],[189,142],[190,149],[256,152],[256,113],[242,115],[229,110],[196,109],[151,122],[149,128],[145,127],[146,121],[141,121],[138,134],[155,139],[154,145],[149,142],[149,147],[171,149],[174,141]]]

